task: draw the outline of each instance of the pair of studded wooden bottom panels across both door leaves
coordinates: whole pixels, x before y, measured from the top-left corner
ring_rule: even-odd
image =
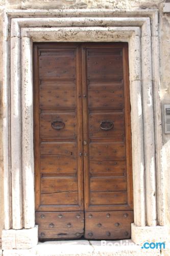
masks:
[[[133,211],[36,212],[38,237],[49,239],[129,239]],[[85,231],[84,231],[84,226]]]

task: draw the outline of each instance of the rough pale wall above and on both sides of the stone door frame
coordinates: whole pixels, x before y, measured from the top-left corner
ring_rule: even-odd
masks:
[[[0,12],[3,9],[86,9],[86,8],[113,8],[113,9],[146,9],[158,8],[160,10],[160,74],[161,74],[161,99],[164,103],[170,103],[170,14],[162,13],[162,5],[165,1],[161,0],[0,0]],[[0,13],[1,14],[1,13]],[[1,16],[0,16],[1,17]],[[2,18],[0,19],[0,38],[2,35]],[[1,44],[1,39],[0,39]],[[0,45],[1,48],[1,45]],[[1,48],[2,49],[2,48]],[[2,50],[0,51],[0,61]],[[0,103],[2,104],[1,93],[1,71],[0,71]],[[2,112],[0,107],[0,143],[2,143]],[[166,219],[170,224],[170,135],[163,134],[163,159],[165,173],[165,200],[166,200]],[[0,146],[0,237],[3,223],[3,168],[2,168],[2,145]]]

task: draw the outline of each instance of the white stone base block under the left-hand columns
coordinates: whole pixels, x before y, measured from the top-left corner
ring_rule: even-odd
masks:
[[[2,231],[2,249],[30,249],[38,243],[38,225],[29,229]]]

